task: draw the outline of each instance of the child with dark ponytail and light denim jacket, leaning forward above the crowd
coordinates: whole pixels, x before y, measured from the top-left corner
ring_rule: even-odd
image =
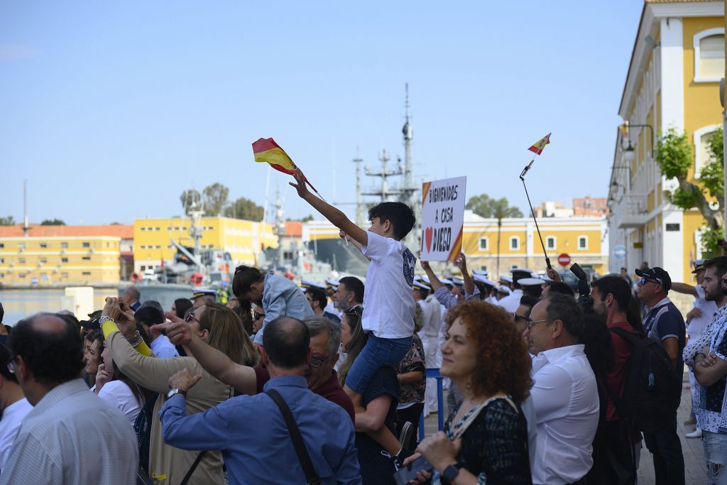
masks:
[[[305,294],[293,281],[268,271],[265,276],[257,268],[238,266],[232,281],[232,291],[238,300],[246,300],[262,305],[265,320],[262,328],[255,334],[253,342],[262,345],[265,325],[279,316],[292,316],[300,320],[313,316],[310,303]]]

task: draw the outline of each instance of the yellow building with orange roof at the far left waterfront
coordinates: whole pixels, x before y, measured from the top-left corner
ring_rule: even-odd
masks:
[[[0,227],[0,284],[118,284],[132,226]]]

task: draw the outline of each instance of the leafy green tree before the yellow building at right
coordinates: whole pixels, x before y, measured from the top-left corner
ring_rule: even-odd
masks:
[[[707,220],[702,235],[705,255],[716,254],[724,237],[724,143],[722,128],[716,130],[707,142],[710,159],[702,167],[699,178],[688,179],[694,167],[694,154],[686,133],[670,128],[656,143],[654,158],[662,174],[675,179],[678,187],[664,191],[667,199],[681,209],[696,207]]]

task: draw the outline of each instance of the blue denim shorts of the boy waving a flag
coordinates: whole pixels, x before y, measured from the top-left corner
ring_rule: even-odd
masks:
[[[369,340],[361,349],[356,360],[353,361],[348,374],[346,385],[350,390],[363,395],[374,374],[382,367],[395,367],[411,347],[411,339],[382,339],[369,334]]]

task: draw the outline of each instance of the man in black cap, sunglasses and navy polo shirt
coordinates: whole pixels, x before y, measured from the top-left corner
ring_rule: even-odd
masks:
[[[667,294],[672,288],[672,278],[662,268],[638,269],[636,294],[646,303],[643,331],[659,342],[672,359],[678,379],[684,372],[682,350],[686,340],[684,318]],[[643,433],[648,451],[654,456],[654,476],[657,484],[684,484],[684,455],[677,434],[677,411],[664,422],[662,430]]]

